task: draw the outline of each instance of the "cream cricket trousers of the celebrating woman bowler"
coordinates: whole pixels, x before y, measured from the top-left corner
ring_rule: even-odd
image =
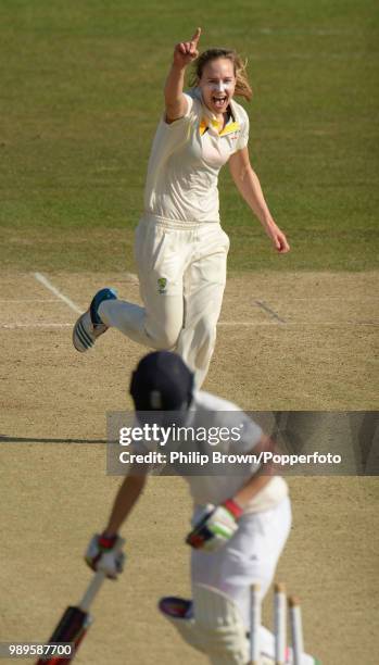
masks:
[[[179,353],[199,388],[216,342],[228,250],[217,223],[144,214],[135,238],[144,306],[108,300],[99,306],[100,318],[140,344]]]

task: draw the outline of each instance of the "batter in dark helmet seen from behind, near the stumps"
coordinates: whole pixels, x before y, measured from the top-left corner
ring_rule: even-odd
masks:
[[[175,353],[156,351],[144,356],[134,373],[130,393],[137,418],[149,412],[149,417],[156,414],[162,423],[169,411],[170,416],[175,412],[177,424],[194,430],[204,423],[209,431],[239,427],[242,435],[237,442],[229,439],[217,444],[226,454],[258,454],[273,448],[269,438],[238,406],[195,390],[193,373]],[[144,443],[140,446],[143,449]],[[177,470],[180,474],[180,468]],[[263,598],[271,584],[291,526],[288,486],[271,467],[263,469],[256,462],[241,464],[232,475],[186,475],[182,467],[181,474],[193,500],[192,528],[187,537],[192,601],[168,597],[162,599],[160,610],[211,663],[245,665],[249,590],[253,582],[260,584]],[[92,569],[102,569],[109,577],[122,570],[123,556],[116,551],[118,532],[146,482],[147,475],[132,469],[124,479],[105,528],[88,547],[86,561]],[[273,635],[261,627],[260,640],[265,662],[274,663]],[[303,665],[314,663],[304,656]]]

